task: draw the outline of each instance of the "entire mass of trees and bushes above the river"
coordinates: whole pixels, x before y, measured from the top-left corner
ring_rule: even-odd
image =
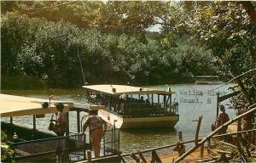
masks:
[[[15,87],[14,76],[80,87],[79,58],[90,84],[193,82],[256,62],[255,26],[236,2],[1,4],[3,88]],[[148,31],[154,25],[160,33]]]

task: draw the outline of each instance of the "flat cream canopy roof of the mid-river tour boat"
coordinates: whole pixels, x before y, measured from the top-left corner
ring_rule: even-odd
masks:
[[[173,94],[175,92],[161,91],[158,89],[146,88],[146,87],[132,87],[126,85],[90,85],[83,86],[92,92],[107,93],[111,95],[122,95],[122,94]]]

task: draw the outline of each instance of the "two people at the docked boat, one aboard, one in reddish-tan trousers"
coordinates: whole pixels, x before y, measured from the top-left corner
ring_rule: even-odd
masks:
[[[64,112],[64,105],[61,103],[55,104],[56,110],[58,113],[56,114],[57,118],[50,120],[49,130],[56,133],[57,136],[64,136],[68,134],[68,121],[67,115]],[[53,123],[55,121],[55,124]],[[100,157],[101,150],[101,141],[107,130],[108,124],[106,121],[102,120],[102,118],[98,115],[95,115],[95,111],[89,110],[89,116],[84,121],[83,124],[83,134],[86,131],[87,127],[90,129],[90,140],[92,144],[92,148],[95,153],[95,157]]]

